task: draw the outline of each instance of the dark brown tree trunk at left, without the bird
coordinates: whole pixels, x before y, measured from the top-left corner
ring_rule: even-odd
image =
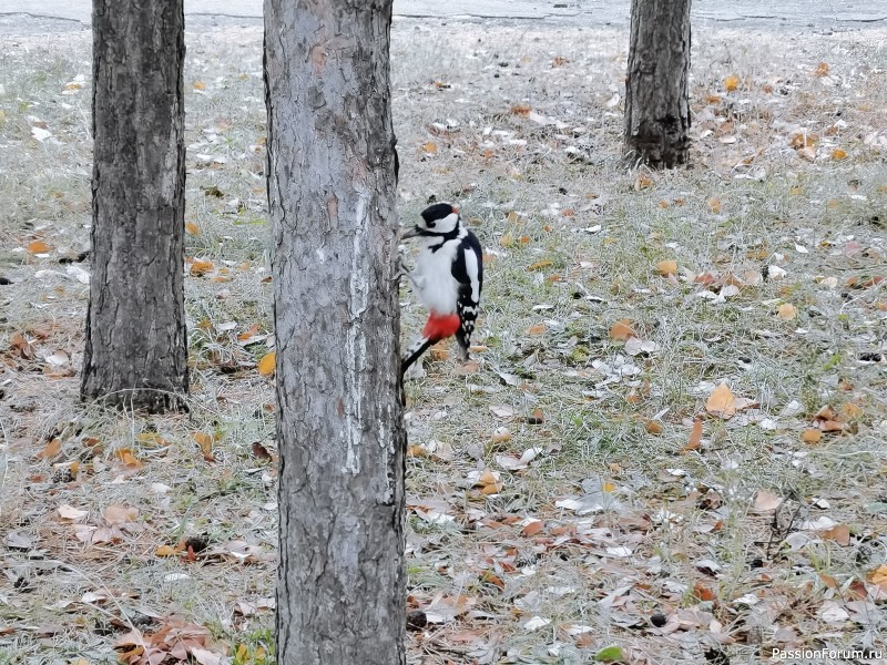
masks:
[[[81,397],[187,392],[183,0],[93,0],[92,279]]]

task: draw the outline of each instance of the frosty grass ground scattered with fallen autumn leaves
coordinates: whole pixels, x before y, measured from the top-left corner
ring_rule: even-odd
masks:
[[[624,32],[396,22],[401,219],[453,201],[488,275],[478,365],[408,386],[410,663],[885,648],[885,37],[700,31],[652,173]],[[0,663],[269,658],[261,44],[188,34],[194,383],[154,418],[77,402],[89,39],[0,47]]]

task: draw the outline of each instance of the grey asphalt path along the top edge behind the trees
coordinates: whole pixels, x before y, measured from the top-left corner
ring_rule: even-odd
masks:
[[[256,24],[262,0],[185,0],[186,29]],[[395,0],[395,17],[550,25],[629,24],[630,0]],[[0,0],[0,34],[89,30],[91,0]],[[887,25],[887,0],[694,0],[694,25],[858,30]]]

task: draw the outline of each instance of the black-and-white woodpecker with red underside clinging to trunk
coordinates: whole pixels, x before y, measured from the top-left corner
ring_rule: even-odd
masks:
[[[401,238],[419,238],[422,248],[408,275],[417,297],[428,308],[422,336],[407,349],[401,376],[432,344],[456,336],[459,356],[468,360],[471,332],[480,306],[483,262],[480,242],[463,224],[459,208],[436,203]]]

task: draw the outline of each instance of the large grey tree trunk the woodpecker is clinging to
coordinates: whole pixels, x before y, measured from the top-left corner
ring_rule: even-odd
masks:
[[[265,0],[277,659],[404,663],[391,0]]]

